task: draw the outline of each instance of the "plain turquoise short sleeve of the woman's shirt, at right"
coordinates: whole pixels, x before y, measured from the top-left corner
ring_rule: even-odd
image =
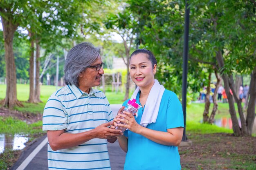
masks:
[[[167,115],[166,115],[166,128],[184,128],[184,117],[182,111],[182,105],[173,92],[170,93],[167,106]]]

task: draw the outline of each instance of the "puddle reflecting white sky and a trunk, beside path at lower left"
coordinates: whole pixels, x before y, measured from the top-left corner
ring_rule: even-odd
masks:
[[[0,153],[5,149],[20,150],[25,148],[28,137],[22,135],[4,135],[0,134]]]

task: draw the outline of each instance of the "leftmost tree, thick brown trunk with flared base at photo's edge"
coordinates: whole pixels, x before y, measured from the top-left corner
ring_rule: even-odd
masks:
[[[17,4],[18,3],[18,4]],[[19,7],[19,9],[18,9]],[[6,96],[3,101],[3,105],[9,108],[13,108],[16,104],[22,106],[21,102],[17,99],[16,88],[16,67],[13,55],[13,37],[16,29],[20,24],[20,18],[22,18],[22,10],[27,7],[25,0],[20,1],[7,1],[1,3],[0,15],[3,26],[4,35],[4,49],[5,49],[5,61],[6,61],[6,79],[7,90]]]

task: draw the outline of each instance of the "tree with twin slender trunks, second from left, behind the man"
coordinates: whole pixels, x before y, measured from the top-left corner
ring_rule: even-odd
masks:
[[[82,9],[85,4],[88,4],[88,2],[81,2],[81,4],[79,2],[81,1],[52,0],[31,6],[37,22],[36,24],[30,22],[27,26],[31,40],[29,102],[40,102],[40,46],[43,45],[47,49],[56,48],[57,45],[63,46],[61,42],[64,38],[74,38],[77,25],[82,18]],[[36,56],[36,77],[32,74],[34,70],[33,50]],[[34,78],[36,79],[35,85]]]

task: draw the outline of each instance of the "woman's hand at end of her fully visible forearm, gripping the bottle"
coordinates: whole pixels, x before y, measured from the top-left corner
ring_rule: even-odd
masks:
[[[124,123],[124,124],[117,124],[117,126],[125,127],[132,132],[139,133],[139,130],[142,126],[137,124],[137,121],[135,120],[134,116],[131,113],[124,111],[123,114],[118,114],[117,116],[119,116],[116,118],[117,121]]]

